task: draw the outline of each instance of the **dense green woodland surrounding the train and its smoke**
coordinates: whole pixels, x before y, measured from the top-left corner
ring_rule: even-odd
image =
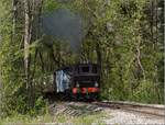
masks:
[[[77,50],[42,32],[58,9],[81,19]],[[1,116],[37,113],[50,76],[76,63],[99,65],[101,100],[163,103],[163,0],[0,0]]]

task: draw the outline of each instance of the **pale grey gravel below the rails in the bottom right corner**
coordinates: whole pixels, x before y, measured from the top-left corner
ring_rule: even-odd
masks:
[[[165,118],[160,118],[155,116],[148,116],[140,113],[125,112],[121,110],[106,110],[108,116],[105,118],[106,124],[117,124],[117,125],[165,125]]]

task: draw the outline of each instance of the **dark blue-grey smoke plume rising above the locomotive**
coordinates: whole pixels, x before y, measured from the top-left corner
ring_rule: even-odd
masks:
[[[68,42],[73,50],[78,50],[84,37],[82,20],[80,15],[67,9],[58,9],[42,16],[44,34]]]

